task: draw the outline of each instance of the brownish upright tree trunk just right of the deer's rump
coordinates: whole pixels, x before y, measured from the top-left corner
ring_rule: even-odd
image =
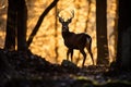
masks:
[[[107,0],[96,0],[97,64],[109,64],[107,41]]]

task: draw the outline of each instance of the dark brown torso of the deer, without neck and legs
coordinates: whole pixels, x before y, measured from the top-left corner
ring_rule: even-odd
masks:
[[[91,38],[88,35],[86,34],[74,34],[74,33],[70,33],[70,32],[62,32],[62,37],[64,39],[64,45],[69,48],[69,49],[84,49],[85,45],[86,45],[86,40],[88,38]],[[78,38],[76,38],[78,37]]]

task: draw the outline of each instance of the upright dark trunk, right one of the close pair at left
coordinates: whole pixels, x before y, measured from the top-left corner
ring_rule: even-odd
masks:
[[[26,45],[26,24],[27,7],[25,0],[17,0],[17,50],[27,50]]]

